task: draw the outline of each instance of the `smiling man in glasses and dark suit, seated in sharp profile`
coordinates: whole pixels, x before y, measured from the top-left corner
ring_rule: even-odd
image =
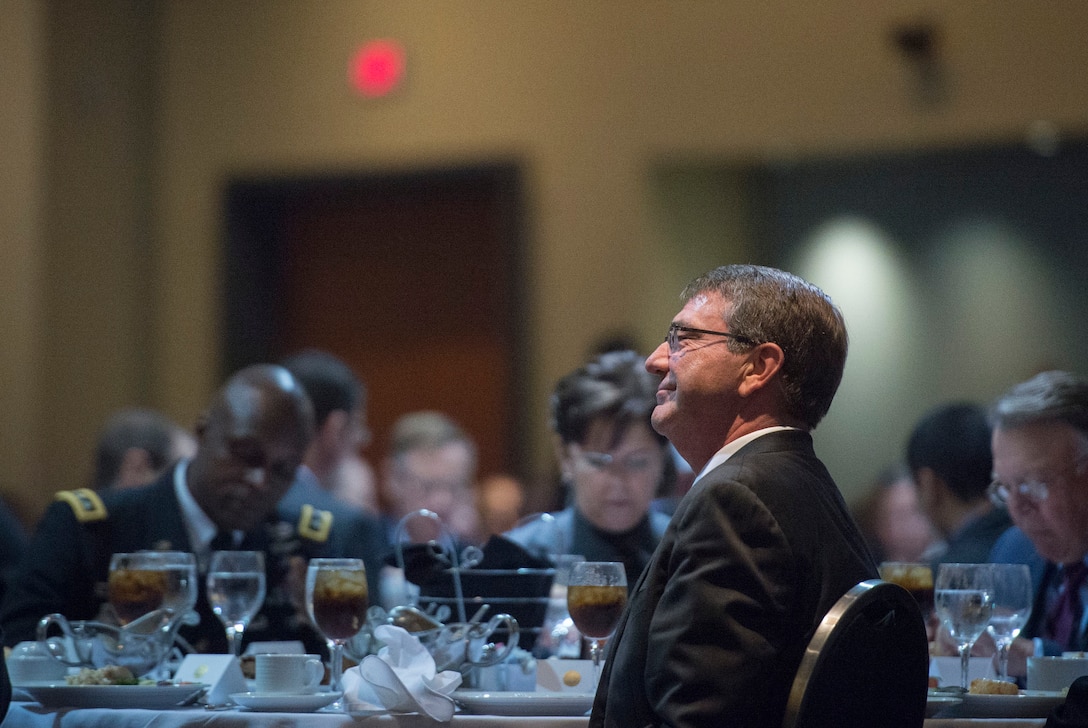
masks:
[[[777,726],[820,619],[876,566],[814,451],[846,358],[830,299],[728,266],[646,360],[654,428],[698,472],[616,630],[590,725]]]

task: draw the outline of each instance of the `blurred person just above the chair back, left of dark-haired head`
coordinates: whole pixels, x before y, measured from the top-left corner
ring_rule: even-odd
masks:
[[[918,493],[906,466],[881,472],[862,498],[854,503],[854,520],[880,562],[928,562],[941,548],[937,530],[922,511]]]

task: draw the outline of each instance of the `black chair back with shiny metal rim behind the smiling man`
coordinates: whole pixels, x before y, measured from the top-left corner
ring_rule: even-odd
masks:
[[[782,728],[919,728],[928,677],[918,603],[897,584],[863,581],[808,642]]]

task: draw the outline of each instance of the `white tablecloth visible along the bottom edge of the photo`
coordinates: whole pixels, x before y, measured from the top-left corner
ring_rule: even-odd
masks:
[[[924,728],[1042,728],[1046,718],[927,718]],[[420,714],[258,713],[175,710],[44,707],[14,702],[0,728],[586,728],[585,716],[497,716],[458,713],[448,724]]]

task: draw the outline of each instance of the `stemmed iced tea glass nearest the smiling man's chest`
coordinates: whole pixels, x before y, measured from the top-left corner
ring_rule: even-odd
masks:
[[[567,580],[567,609],[590,642],[593,671],[601,679],[601,642],[611,637],[627,606],[627,572],[619,562],[579,562]]]

